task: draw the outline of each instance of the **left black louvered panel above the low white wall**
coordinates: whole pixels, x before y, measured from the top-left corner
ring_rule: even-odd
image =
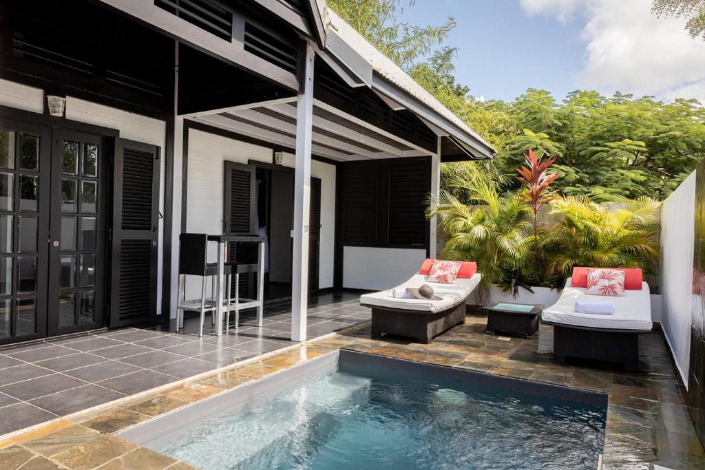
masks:
[[[355,161],[345,165],[343,204],[346,243],[377,241],[378,167],[376,162]]]

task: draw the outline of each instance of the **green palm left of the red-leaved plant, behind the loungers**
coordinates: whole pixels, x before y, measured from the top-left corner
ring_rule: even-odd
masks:
[[[478,205],[468,206],[448,190],[430,197],[427,216],[437,216],[448,233],[442,256],[476,261],[484,297],[494,283],[516,292],[531,249],[532,225],[526,204],[520,197],[500,197],[496,183],[482,173],[452,184]]]

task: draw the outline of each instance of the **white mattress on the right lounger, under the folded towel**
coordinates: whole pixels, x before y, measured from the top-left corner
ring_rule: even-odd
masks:
[[[570,278],[565,282],[558,302],[544,309],[541,319],[551,323],[584,326],[587,328],[610,328],[613,330],[651,330],[651,297],[649,285],[642,283],[642,290],[626,290],[624,297],[589,295],[584,287],[570,287]],[[575,302],[612,302],[615,313],[578,314]]]

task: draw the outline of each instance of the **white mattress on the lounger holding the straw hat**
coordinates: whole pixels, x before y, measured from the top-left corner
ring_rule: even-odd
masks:
[[[435,313],[453,307],[464,301],[468,295],[480,283],[482,275],[475,273],[472,278],[458,278],[454,284],[428,283],[426,276],[415,274],[410,280],[398,287],[418,288],[424,284],[433,287],[434,294],[441,297],[441,300],[427,299],[398,299],[392,296],[392,289],[381,290],[360,296],[360,304],[374,305],[375,307],[388,307],[390,309],[418,310]]]

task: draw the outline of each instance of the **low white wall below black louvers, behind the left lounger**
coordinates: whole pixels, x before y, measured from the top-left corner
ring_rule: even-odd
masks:
[[[419,272],[425,249],[343,247],[343,287],[384,290]]]

